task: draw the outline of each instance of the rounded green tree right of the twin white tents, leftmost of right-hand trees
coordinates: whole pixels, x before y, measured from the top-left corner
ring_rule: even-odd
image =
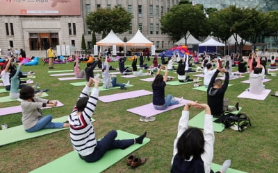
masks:
[[[181,37],[186,39],[186,33],[189,31],[195,36],[208,35],[206,26],[206,16],[200,6],[192,6],[191,4],[181,4],[173,6],[170,12],[161,17],[161,31],[170,35],[172,39],[178,40]]]

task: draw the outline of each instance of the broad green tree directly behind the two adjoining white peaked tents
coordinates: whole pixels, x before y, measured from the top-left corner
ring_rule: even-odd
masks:
[[[90,30],[106,36],[111,30],[115,33],[129,30],[131,19],[133,15],[130,12],[115,6],[113,9],[99,8],[95,12],[90,12],[85,21]]]

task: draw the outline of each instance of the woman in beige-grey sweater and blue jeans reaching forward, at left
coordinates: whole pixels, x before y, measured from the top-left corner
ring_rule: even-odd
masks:
[[[42,107],[56,107],[57,101],[35,98],[35,90],[31,86],[25,86],[20,90],[19,98],[22,99],[22,125],[27,132],[35,132],[40,129],[61,129],[69,127],[67,122],[51,122],[52,116],[42,116]]]

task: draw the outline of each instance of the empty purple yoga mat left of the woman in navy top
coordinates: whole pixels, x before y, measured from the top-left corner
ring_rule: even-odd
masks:
[[[117,100],[125,100],[125,99],[129,99],[129,98],[138,98],[140,96],[150,95],[150,94],[152,94],[151,91],[141,89],[141,90],[137,90],[137,91],[130,91],[130,92],[125,92],[125,93],[116,93],[116,94],[112,94],[112,95],[100,96],[99,100],[101,102],[114,102],[114,101],[117,101]]]

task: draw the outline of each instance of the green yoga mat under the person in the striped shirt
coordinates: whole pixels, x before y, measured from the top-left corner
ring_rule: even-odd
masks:
[[[117,139],[129,139],[129,138],[137,138],[138,136],[135,134],[129,134],[125,131],[117,130]],[[70,140],[70,139],[69,139]],[[113,149],[108,152],[97,162],[95,163],[86,163],[85,161],[79,158],[77,152],[73,151],[60,158],[57,158],[55,161],[47,163],[47,165],[43,165],[42,167],[38,167],[36,170],[32,172],[38,173],[49,173],[49,172],[67,172],[67,173],[82,173],[82,172],[103,172],[111,165],[114,165],[122,158],[128,156],[136,149],[146,145],[149,143],[150,139],[145,138],[142,144],[131,145],[126,149]],[[126,163],[124,165],[126,167]]]

